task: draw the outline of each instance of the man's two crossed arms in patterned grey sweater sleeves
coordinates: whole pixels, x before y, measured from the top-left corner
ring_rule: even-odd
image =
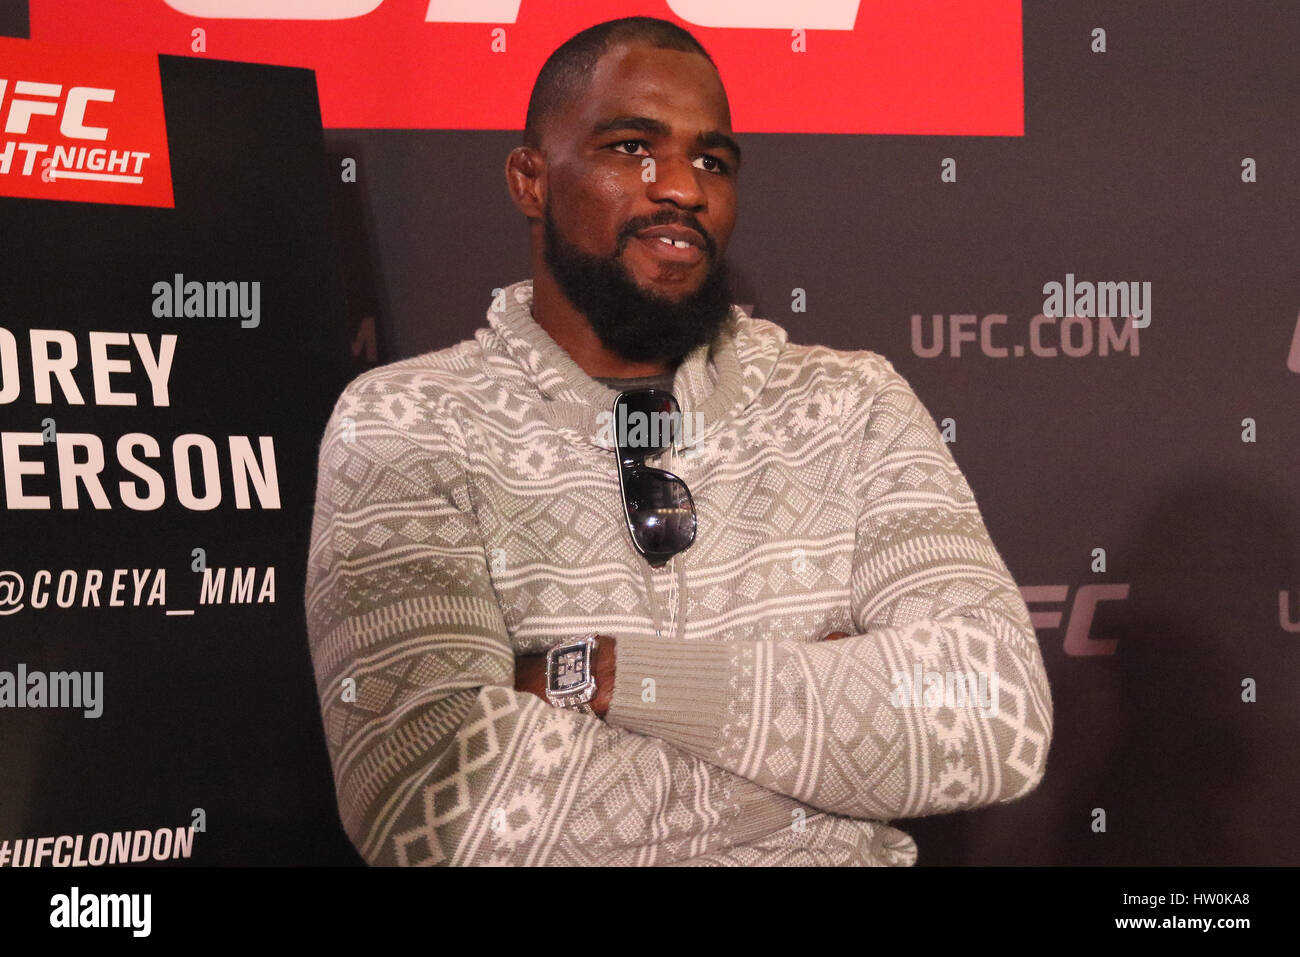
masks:
[[[844,423],[863,436],[857,633],[602,641],[606,720],[550,707],[540,662],[512,654],[482,544],[467,534],[455,417],[436,410],[399,429],[385,421],[389,390],[346,391],[321,447],[307,611],[339,811],[360,853],[673,863],[759,841],[801,807],[888,820],[1032,789],[1052,701],[1028,611],[933,421],[887,374]],[[354,416],[364,424],[347,434]],[[906,534],[918,525],[922,547]],[[916,664],[996,674],[997,714],[890,701],[894,676]],[[653,703],[640,700],[645,676]]]

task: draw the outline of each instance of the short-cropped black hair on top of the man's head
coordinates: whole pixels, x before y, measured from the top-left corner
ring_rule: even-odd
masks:
[[[718,69],[699,40],[671,21],[658,17],[621,17],[597,23],[564,40],[542,64],[528,99],[524,146],[541,148],[542,126],[546,121],[586,92],[597,62],[620,43],[647,43],[659,49],[699,53]]]

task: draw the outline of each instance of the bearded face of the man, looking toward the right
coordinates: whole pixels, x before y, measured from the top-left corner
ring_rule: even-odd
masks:
[[[545,263],[611,352],[676,363],[727,319],[740,161],[729,134],[708,61],[644,44],[611,48],[588,96],[547,131]],[[666,225],[702,248],[637,235]]]

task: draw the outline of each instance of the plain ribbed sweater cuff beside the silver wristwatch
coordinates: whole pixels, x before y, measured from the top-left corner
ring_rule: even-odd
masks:
[[[712,757],[731,697],[734,651],[715,641],[618,638],[614,694],[604,720],[697,757]]]

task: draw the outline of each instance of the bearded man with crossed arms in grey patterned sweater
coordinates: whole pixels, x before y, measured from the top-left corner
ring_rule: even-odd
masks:
[[[506,165],[533,278],[339,398],[307,614],[367,861],[910,865],[890,819],[1041,779],[1028,610],[932,419],[731,303],[740,163],[689,33],[573,36]]]

